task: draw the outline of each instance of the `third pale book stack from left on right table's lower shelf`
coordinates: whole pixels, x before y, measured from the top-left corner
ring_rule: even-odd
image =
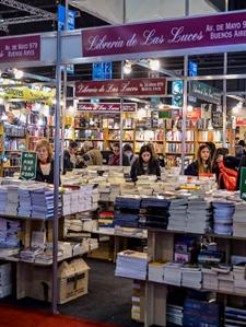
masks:
[[[201,289],[202,275],[200,268],[181,268],[181,285],[191,289]]]

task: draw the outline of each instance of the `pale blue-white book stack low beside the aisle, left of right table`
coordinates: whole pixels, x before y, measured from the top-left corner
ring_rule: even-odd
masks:
[[[145,253],[124,250],[117,254],[115,275],[133,279],[147,279],[148,256]]]

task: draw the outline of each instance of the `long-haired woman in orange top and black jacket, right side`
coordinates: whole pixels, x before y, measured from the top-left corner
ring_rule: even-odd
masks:
[[[199,176],[203,174],[212,174],[211,150],[207,144],[202,144],[198,149],[197,161],[192,162],[185,170],[185,175]]]

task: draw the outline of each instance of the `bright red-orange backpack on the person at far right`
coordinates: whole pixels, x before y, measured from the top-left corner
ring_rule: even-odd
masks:
[[[225,188],[227,190],[236,190],[237,185],[237,172],[232,168],[226,168],[223,161],[219,163],[219,188]]]

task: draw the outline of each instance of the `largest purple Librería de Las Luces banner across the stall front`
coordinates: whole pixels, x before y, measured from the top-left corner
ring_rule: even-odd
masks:
[[[183,50],[246,43],[246,12],[82,31],[82,56]],[[212,49],[211,49],[212,51]]]

